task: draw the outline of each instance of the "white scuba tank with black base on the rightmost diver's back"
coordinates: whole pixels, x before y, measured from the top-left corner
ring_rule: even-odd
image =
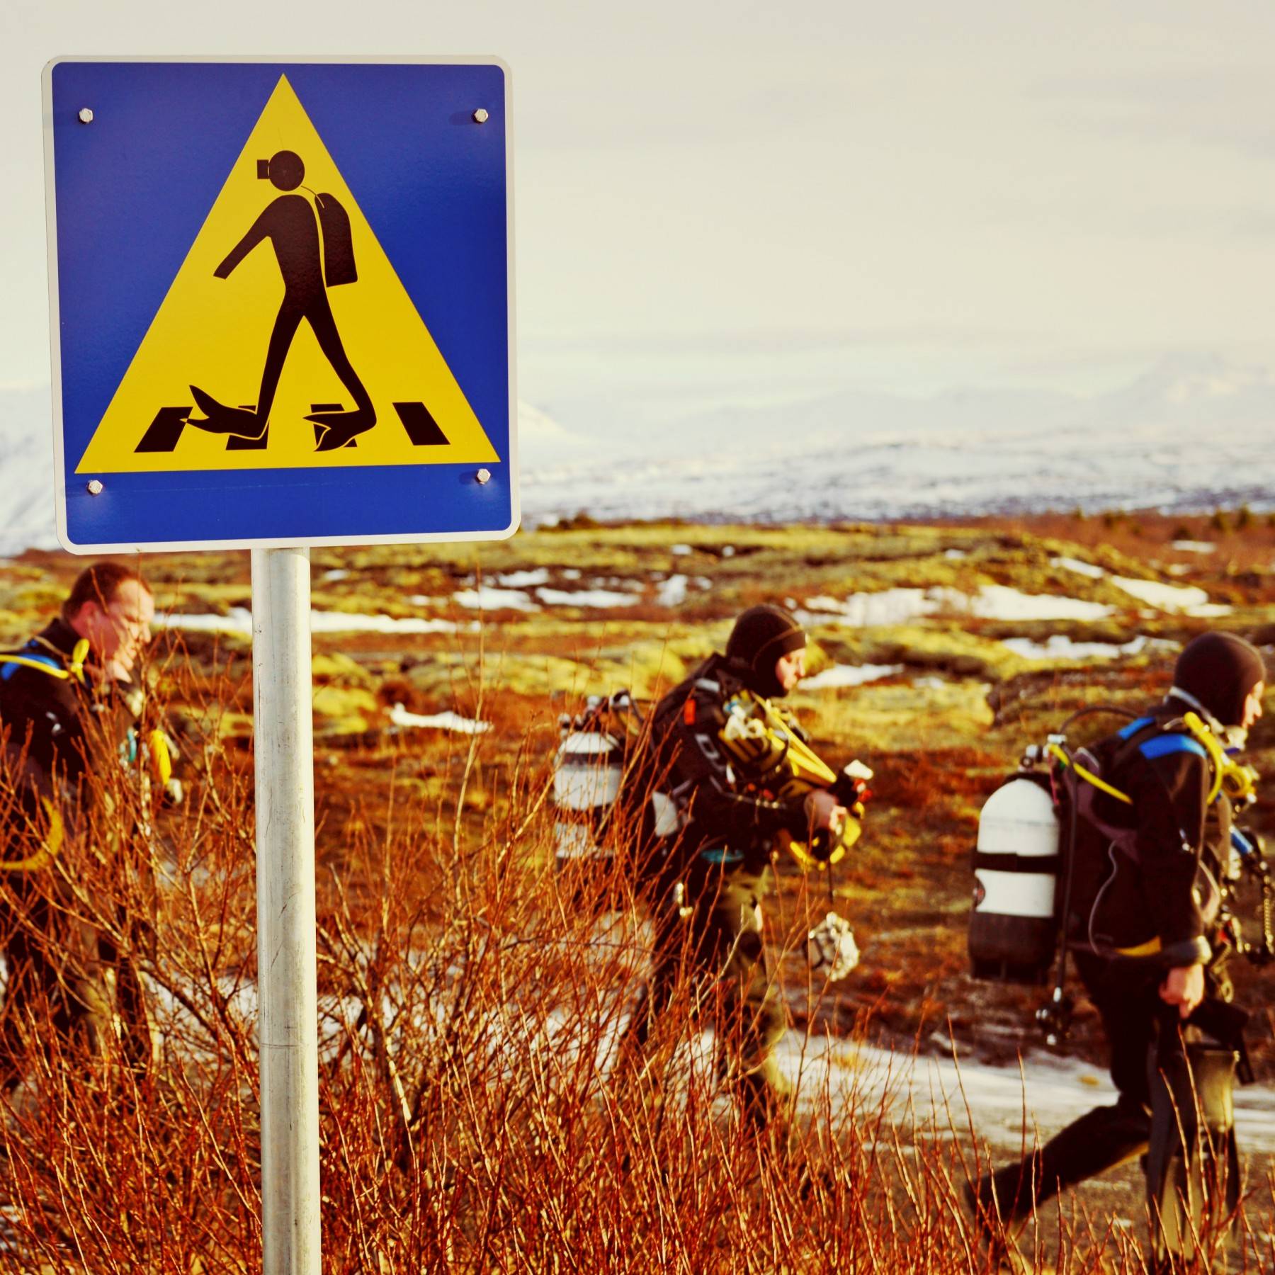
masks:
[[[969,958],[974,978],[1043,983],[1057,950],[1061,830],[1048,785],[1020,771],[978,817]]]

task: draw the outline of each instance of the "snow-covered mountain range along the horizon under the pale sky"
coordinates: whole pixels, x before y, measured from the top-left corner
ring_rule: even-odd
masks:
[[[1275,506],[1275,375],[1163,360],[1090,397],[848,390],[782,405],[558,417],[519,404],[523,515],[887,519]],[[56,543],[48,390],[0,388],[0,552]]]

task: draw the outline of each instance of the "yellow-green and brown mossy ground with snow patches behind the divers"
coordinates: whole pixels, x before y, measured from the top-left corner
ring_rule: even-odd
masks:
[[[1214,550],[1174,547],[1184,539],[1211,542]],[[1089,562],[1107,575],[1077,574],[1060,558]],[[0,564],[0,643],[15,645],[29,635],[80,566],[37,552]],[[224,615],[251,601],[246,553],[156,555],[143,569],[162,612]],[[1210,602],[1232,609],[1209,620],[1158,611],[1119,590],[1112,575],[1198,586]],[[685,595],[669,588],[672,576],[686,578]],[[477,816],[499,808],[511,784],[547,783],[560,713],[588,694],[622,686],[658,695],[701,655],[720,649],[732,617],[754,603],[806,608],[810,599],[886,589],[975,594],[1006,585],[1111,608],[1096,620],[1016,621],[979,617],[949,601],[932,615],[873,627],[811,612],[813,671],[831,663],[903,666],[868,685],[793,697],[830,760],[858,756],[877,771],[867,833],[833,877],[836,905],[854,923],[864,952],[835,1016],[871,1021],[923,1044],[931,1033],[946,1037],[950,1026],[959,1044],[997,1058],[1035,1043],[1029,1019],[1042,993],[977,984],[966,975],[969,852],[979,806],[1021,747],[1043,738],[1068,711],[1100,701],[1136,706],[1163,694],[1173,655],[1168,645],[1156,645],[1118,659],[1029,660],[1003,639],[1127,643],[1145,635],[1178,644],[1219,625],[1275,641],[1275,527],[1234,514],[544,529],[495,544],[315,550],[312,581],[319,611],[454,626],[314,636],[320,858],[354,878],[360,864],[351,847],[362,843],[354,833],[376,833],[404,803],[432,812],[445,835],[470,747],[477,768],[464,810]],[[501,604],[509,597],[499,594],[484,612],[462,604],[479,584],[520,590],[538,609]],[[546,604],[537,597],[541,588],[556,590],[551,597],[560,601]],[[580,592],[597,589],[632,601],[598,606]],[[572,593],[576,604],[561,599]],[[178,667],[185,669],[180,678]],[[195,733],[222,740],[246,768],[247,639],[171,630],[157,644],[153,671],[161,682],[180,683],[187,710],[213,699],[195,714]],[[492,729],[477,737],[398,729],[389,718],[397,704],[413,713],[451,709],[481,717]],[[1275,729],[1253,732],[1252,760],[1275,773]],[[1272,830],[1271,797],[1258,802],[1250,822]],[[423,863],[422,892],[430,884]],[[802,928],[826,907],[825,891],[825,878],[803,880],[780,864],[771,909],[776,945],[799,950]],[[793,986],[803,988],[797,958],[790,963]],[[1265,977],[1243,980],[1255,1005],[1275,987]],[[794,1010],[801,1003],[805,996],[794,996]],[[1265,1019],[1255,1035],[1265,1060],[1272,1052]],[[1096,1048],[1085,1012],[1075,1048]]]

